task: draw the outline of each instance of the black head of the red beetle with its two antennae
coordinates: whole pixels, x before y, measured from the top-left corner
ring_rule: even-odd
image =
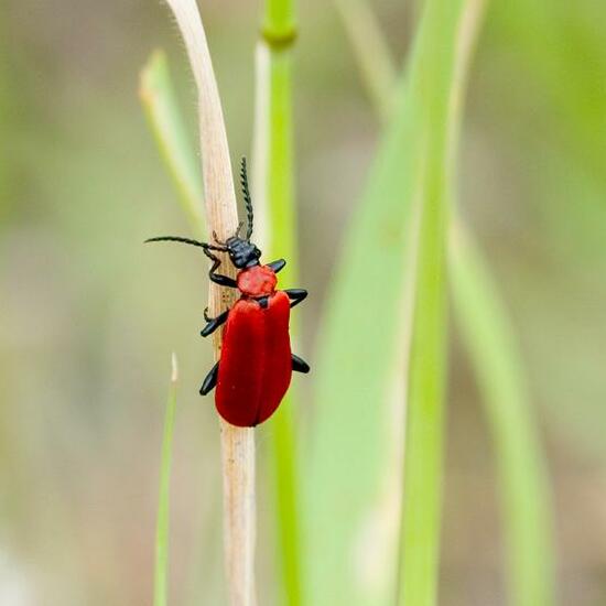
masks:
[[[218,262],[218,258],[212,255],[212,250],[224,251],[229,255],[230,261],[238,269],[250,268],[259,264],[259,258],[261,257],[261,251],[250,241],[252,236],[252,201],[250,199],[250,192],[248,191],[248,175],[246,171],[246,158],[242,158],[242,164],[240,169],[240,183],[242,185],[242,194],[246,206],[246,216],[247,216],[247,230],[246,238],[240,238],[240,229],[242,224],[236,229],[234,236],[227,238],[225,242],[220,241],[217,238],[217,235],[213,232],[213,238],[215,239],[216,245],[210,245],[206,242],[198,242],[197,240],[192,240],[191,238],[181,238],[177,236],[161,236],[159,238],[150,238],[145,240],[147,242],[158,242],[158,241],[173,241],[173,242],[183,242],[192,246],[199,246],[204,249],[204,252],[210,259],[214,259]]]

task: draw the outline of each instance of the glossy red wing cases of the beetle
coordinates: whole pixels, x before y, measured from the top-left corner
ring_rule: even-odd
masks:
[[[273,414],[291,382],[290,300],[278,291],[267,307],[240,299],[229,311],[215,402],[232,425],[255,426]]]

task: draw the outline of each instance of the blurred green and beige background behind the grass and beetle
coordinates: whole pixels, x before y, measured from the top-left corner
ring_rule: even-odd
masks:
[[[402,55],[413,3],[374,2]],[[260,6],[202,6],[234,156],[249,153]],[[300,7],[295,122],[305,357],[379,125],[331,4]],[[472,69],[461,205],[518,332],[550,461],[562,604],[606,604],[606,10],[494,2]],[[196,141],[169,11],[129,0],[0,6],[0,604],[149,604],[163,407],[180,358],[172,595],[220,604],[218,435],[197,396],[206,262],[138,98],[164,47]],[[501,605],[493,448],[456,331],[441,604]],[[313,375],[299,385],[312,389]],[[271,422],[258,436],[263,452]],[[272,603],[259,477],[259,586]]]

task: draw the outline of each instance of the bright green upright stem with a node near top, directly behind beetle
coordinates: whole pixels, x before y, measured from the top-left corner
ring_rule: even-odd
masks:
[[[292,0],[267,0],[257,47],[255,194],[263,220],[257,236],[269,260],[284,258],[281,288],[297,285],[296,218],[293,176],[292,45],[296,23]],[[291,318],[291,337],[296,324]],[[275,499],[275,562],[279,603],[302,604],[293,389],[268,426]]]

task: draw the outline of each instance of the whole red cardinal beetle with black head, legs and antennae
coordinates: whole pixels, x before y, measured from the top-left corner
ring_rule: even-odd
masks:
[[[291,382],[292,371],[309,372],[309,365],[291,353],[289,336],[290,309],[301,303],[307,291],[275,289],[275,274],[286,261],[278,259],[267,266],[259,262],[261,251],[250,241],[252,236],[252,202],[248,191],[246,158],[242,158],[240,180],[247,212],[246,238],[240,238],[242,224],[225,242],[213,234],[216,245],[190,238],[161,236],[147,242],[174,241],[201,247],[213,261],[208,277],[215,284],[238,289],[240,297],[234,306],[217,317],[204,310],[207,337],[225,324],[221,357],[208,372],[202,388],[206,396],[216,387],[218,413],[232,425],[251,428],[267,421],[280,405]],[[234,280],[217,273],[220,259],[212,251],[229,255],[239,271]]]

